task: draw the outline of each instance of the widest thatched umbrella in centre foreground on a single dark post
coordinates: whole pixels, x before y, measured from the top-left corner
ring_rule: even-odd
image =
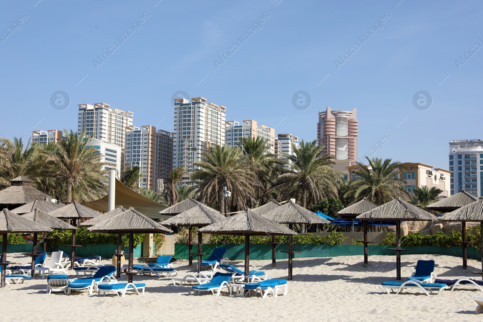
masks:
[[[203,234],[239,235],[245,236],[245,282],[248,282],[250,271],[250,236],[293,236],[296,232],[274,223],[252,210],[246,209],[234,216],[206,227],[200,228]]]

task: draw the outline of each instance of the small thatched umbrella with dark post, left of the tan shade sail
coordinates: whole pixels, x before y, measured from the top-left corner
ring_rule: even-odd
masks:
[[[97,216],[100,216],[101,213],[92,210],[90,208],[81,205],[77,201],[73,201],[71,204],[66,205],[62,208],[56,209],[54,211],[49,212],[49,215],[53,217],[57,217],[60,219],[71,219],[72,225],[77,226],[77,221],[79,219],[90,219]],[[75,244],[75,230],[72,230],[72,245],[65,245],[67,247],[71,247],[71,269],[74,269],[74,262],[75,262],[75,248],[82,247],[81,245]]]

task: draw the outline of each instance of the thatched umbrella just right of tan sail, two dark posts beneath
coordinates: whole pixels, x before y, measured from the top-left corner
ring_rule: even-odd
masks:
[[[188,248],[189,248],[189,261],[188,265],[193,265],[193,226],[198,226],[198,228],[207,226],[222,220],[226,217],[220,215],[220,212],[208,207],[202,203],[199,203],[195,207],[183,211],[174,217],[171,217],[163,221],[165,226],[187,226],[188,227]],[[202,233],[198,231],[198,272],[201,270],[201,257],[202,255]]]

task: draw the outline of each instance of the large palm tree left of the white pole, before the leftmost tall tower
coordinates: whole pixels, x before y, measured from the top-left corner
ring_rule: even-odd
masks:
[[[80,136],[72,130],[64,129],[66,139],[57,142],[56,149],[38,147],[45,158],[44,170],[51,177],[65,185],[65,201],[71,202],[72,196],[79,200],[89,200],[107,191],[106,170],[104,166],[112,165],[102,162],[101,156],[93,146],[87,146],[93,134],[85,137],[85,130]]]

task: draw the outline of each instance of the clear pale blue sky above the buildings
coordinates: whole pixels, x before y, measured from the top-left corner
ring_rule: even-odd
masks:
[[[157,127],[172,130],[170,98],[183,90],[226,106],[227,120],[255,119],[303,140],[316,139],[327,105],[357,107],[359,155],[388,133],[374,156],[448,168],[449,140],[483,139],[481,2],[279,1],[3,2],[0,31],[16,30],[0,43],[0,136],[75,130],[77,104],[99,102],[134,112],[136,126],[166,116]],[[345,50],[355,53],[336,64]],[[50,104],[58,90],[71,99],[63,111]],[[299,90],[312,97],[305,111],[292,105]],[[425,111],[412,103],[421,90],[433,99]]]

